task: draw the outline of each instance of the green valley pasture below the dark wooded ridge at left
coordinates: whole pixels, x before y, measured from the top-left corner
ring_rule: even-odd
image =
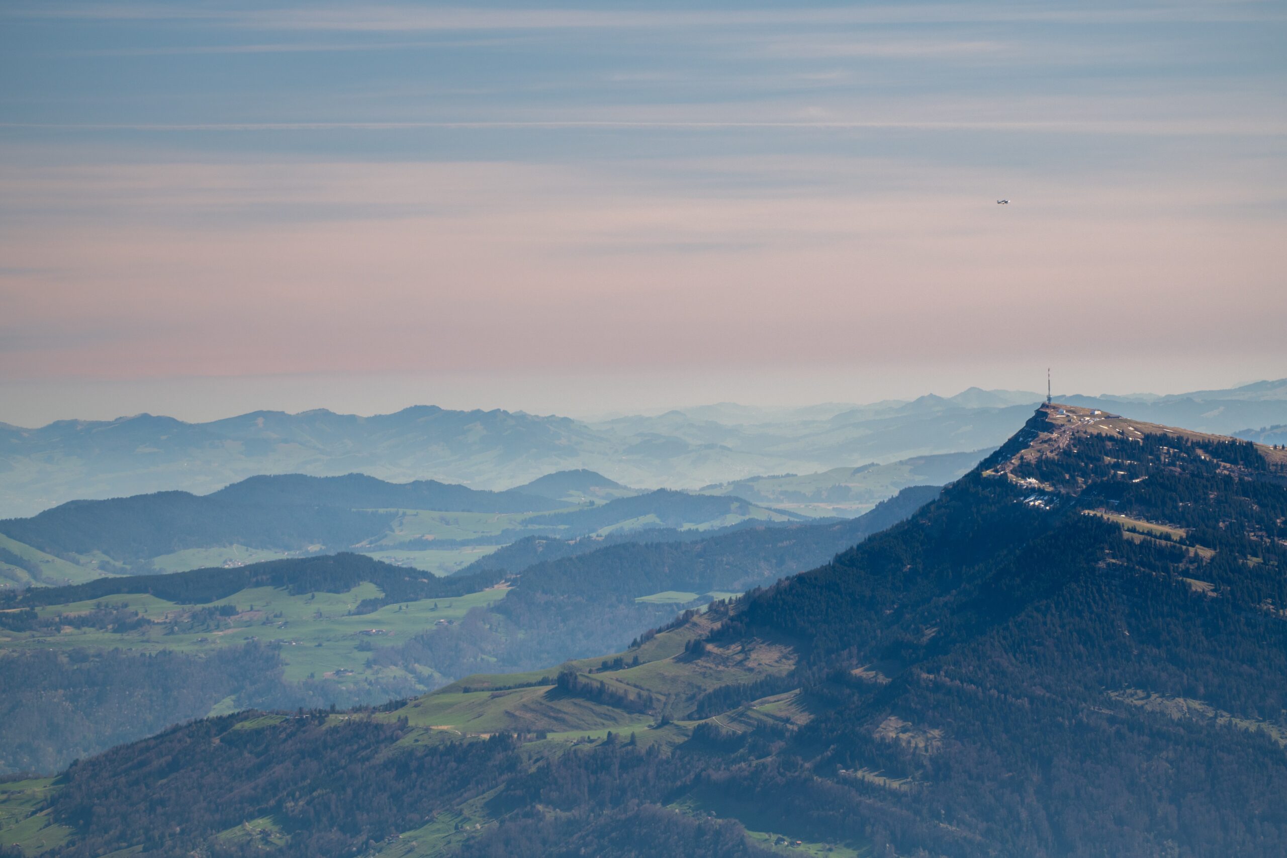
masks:
[[[281,646],[284,678],[358,682],[371,674],[366,668],[372,648],[396,646],[438,623],[458,621],[481,605],[505,598],[503,587],[466,596],[386,605],[372,614],[350,614],[362,599],[382,593],[371,583],[347,593],[291,596],[284,589],[259,587],[241,590],[210,605],[179,605],[148,594],[121,594],[108,599],[41,607],[41,617],[75,615],[98,605],[125,606],[151,623],[117,633],[106,629],[75,629],[64,625],[57,634],[0,632],[0,648],[44,647],[72,650],[125,648],[138,652],[172,650],[208,652],[216,647],[241,646],[248,641]],[[224,621],[193,624],[193,610],[230,605],[237,614]]]

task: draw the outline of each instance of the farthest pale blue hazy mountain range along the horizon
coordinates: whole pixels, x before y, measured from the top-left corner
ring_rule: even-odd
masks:
[[[911,401],[795,409],[726,403],[602,422],[418,405],[375,417],[313,410],[208,423],[139,414],[41,428],[0,424],[0,516],[30,516],[73,499],[172,489],[205,494],[264,473],[366,473],[502,489],[553,471],[592,470],[620,485],[698,489],[994,448],[1040,399],[972,387]],[[1287,423],[1287,379],[1060,401],[1211,432]],[[559,499],[575,497],[569,491]]]

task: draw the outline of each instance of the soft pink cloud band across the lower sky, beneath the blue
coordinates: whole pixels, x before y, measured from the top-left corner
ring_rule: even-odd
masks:
[[[840,167],[753,194],[516,163],[6,170],[49,214],[0,237],[0,309],[35,334],[0,377],[1281,347],[1283,224],[1227,214],[1261,202],[1246,185],[1022,178],[997,208],[995,176]]]

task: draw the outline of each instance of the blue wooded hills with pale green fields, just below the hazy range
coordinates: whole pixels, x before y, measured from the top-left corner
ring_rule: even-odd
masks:
[[[0,581],[57,585],[335,551],[448,574],[533,534],[575,538],[600,530],[718,529],[793,517],[737,498],[680,491],[586,508],[432,480],[257,476],[208,495],[162,491],[73,500],[31,518],[0,521]]]

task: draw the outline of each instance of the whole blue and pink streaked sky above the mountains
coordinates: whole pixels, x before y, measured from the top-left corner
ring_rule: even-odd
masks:
[[[1282,1],[6,0],[0,421],[1283,377],[1283,44]]]

